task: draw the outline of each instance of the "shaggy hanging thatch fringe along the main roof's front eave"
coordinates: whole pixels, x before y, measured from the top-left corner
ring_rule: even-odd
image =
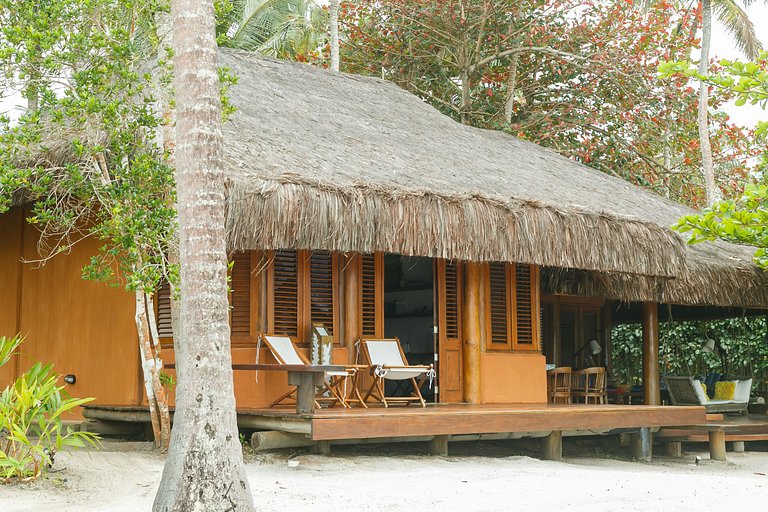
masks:
[[[334,187],[298,176],[229,183],[232,250],[385,251],[673,277],[682,240],[656,224],[479,195]]]

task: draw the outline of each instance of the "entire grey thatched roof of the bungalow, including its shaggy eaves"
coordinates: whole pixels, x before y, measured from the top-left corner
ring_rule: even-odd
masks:
[[[768,306],[749,248],[686,247],[692,210],[536,144],[456,123],[383,80],[226,51],[233,249],[535,263],[553,291]],[[668,279],[674,277],[675,279]]]

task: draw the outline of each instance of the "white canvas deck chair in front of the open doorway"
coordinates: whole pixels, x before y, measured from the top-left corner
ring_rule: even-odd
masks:
[[[427,402],[421,395],[421,386],[429,379],[430,385],[435,378],[435,369],[430,365],[409,365],[405,359],[405,353],[400,346],[400,340],[397,338],[382,340],[360,340],[363,353],[371,366],[373,382],[368,388],[368,392],[363,397],[363,401],[369,397],[374,398],[389,407],[390,404],[410,404],[419,402],[422,407],[426,407]],[[419,378],[417,381],[416,378]],[[413,385],[413,393],[409,396],[387,396],[385,391],[385,380],[403,381],[409,380]]]

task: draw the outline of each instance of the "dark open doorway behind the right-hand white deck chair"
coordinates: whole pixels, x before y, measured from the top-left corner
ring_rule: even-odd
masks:
[[[430,258],[384,255],[384,336],[400,339],[410,364],[434,362],[434,301]],[[425,386],[422,394],[434,401],[434,389]]]

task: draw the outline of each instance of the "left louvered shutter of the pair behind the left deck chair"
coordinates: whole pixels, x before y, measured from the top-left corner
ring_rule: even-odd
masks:
[[[270,334],[298,336],[299,265],[296,251],[275,251],[270,275]]]

